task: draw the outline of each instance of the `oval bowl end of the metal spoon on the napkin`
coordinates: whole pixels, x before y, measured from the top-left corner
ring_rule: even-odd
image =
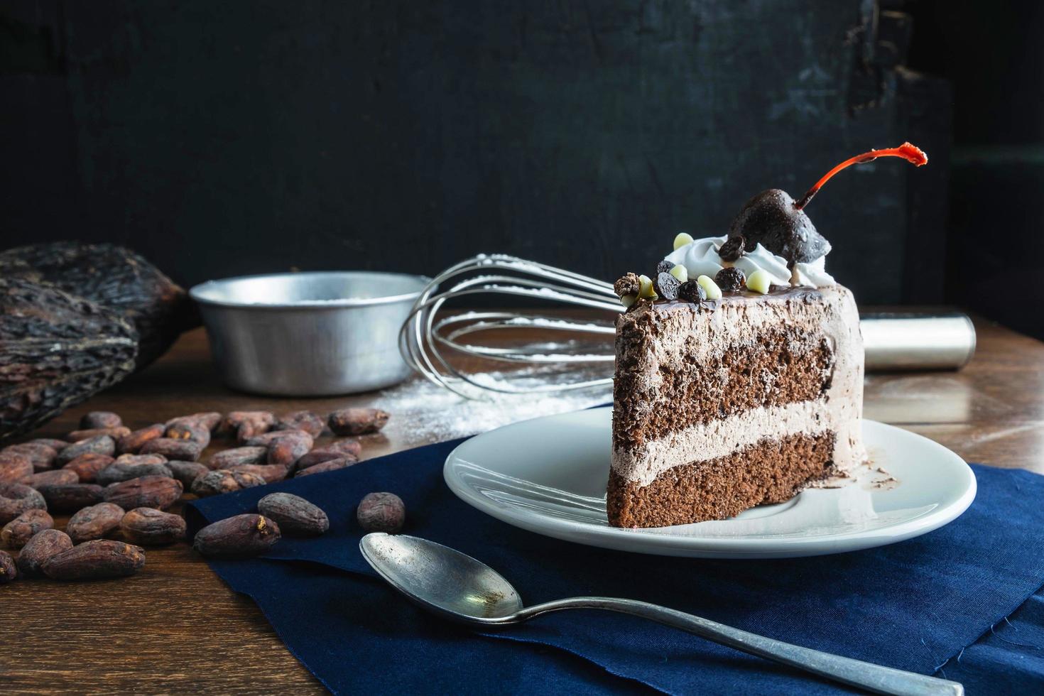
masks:
[[[359,549],[396,590],[455,621],[492,623],[522,609],[522,599],[503,576],[441,544],[374,532],[362,537]]]

